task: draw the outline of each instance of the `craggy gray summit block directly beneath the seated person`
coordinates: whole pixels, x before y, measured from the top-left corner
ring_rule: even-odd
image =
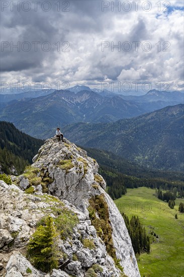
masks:
[[[44,167],[49,177],[54,179],[48,186],[50,193],[68,200],[88,214],[86,207],[91,185],[95,183],[94,175],[97,174],[99,166],[87,157],[86,151],[78,149],[66,140],[61,143],[57,139],[50,139],[41,147],[33,161],[34,167]],[[105,188],[105,182],[102,185]]]

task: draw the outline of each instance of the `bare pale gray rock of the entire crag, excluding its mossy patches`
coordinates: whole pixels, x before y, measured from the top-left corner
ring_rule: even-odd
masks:
[[[124,220],[110,196],[105,192],[106,183],[98,174],[98,163],[87,157],[87,153],[67,140],[58,142],[51,138],[45,142],[38,154],[33,158],[32,167],[37,168],[38,177],[42,180],[49,179],[48,193],[58,197],[57,201],[43,193],[42,186],[35,185],[34,194],[26,194],[25,188],[29,187],[29,181],[24,176],[19,177],[19,186],[8,186],[0,181],[0,197],[3,204],[3,213],[0,220],[0,244],[4,253],[0,261],[8,261],[8,252],[12,256],[6,266],[6,277],[26,276],[26,269],[32,270],[30,276],[68,277],[75,275],[84,277],[87,270],[98,264],[101,267],[101,277],[121,276],[120,270],[115,266],[113,258],[107,253],[106,246],[97,235],[97,231],[89,220],[89,199],[97,195],[104,195],[108,204],[109,220],[112,227],[112,238],[116,249],[116,256],[121,260],[124,273],[128,277],[140,277],[136,258],[131,245]],[[23,180],[23,178],[25,180]],[[22,182],[22,185],[21,185]],[[26,182],[26,183],[25,183]],[[28,184],[28,185],[27,185]],[[62,202],[62,205],[61,205]],[[10,207],[11,203],[11,207]],[[45,274],[34,268],[30,262],[17,249],[24,248],[29,238],[35,232],[36,223],[44,216],[50,214],[56,217],[52,211],[68,209],[78,217],[78,224],[73,228],[72,237],[59,240],[59,250],[67,255],[71,262],[64,268],[54,269]],[[54,209],[54,210],[53,210]],[[84,240],[92,240],[94,247],[84,247]],[[9,254],[10,255],[10,254]],[[75,256],[75,259],[73,258]],[[5,259],[5,257],[7,257]],[[64,258],[62,260],[64,262]],[[1,273],[0,273],[1,276]],[[2,275],[3,276],[3,275]]]

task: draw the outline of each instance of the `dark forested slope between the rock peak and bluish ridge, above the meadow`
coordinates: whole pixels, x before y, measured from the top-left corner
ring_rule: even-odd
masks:
[[[98,149],[84,148],[90,157],[98,161],[99,173],[104,177],[108,193],[118,199],[127,192],[127,188],[150,187],[176,191],[177,197],[184,196],[182,173],[148,171],[134,163],[116,156],[114,153]]]

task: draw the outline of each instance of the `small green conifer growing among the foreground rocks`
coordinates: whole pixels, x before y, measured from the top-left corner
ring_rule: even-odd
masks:
[[[58,267],[58,233],[50,216],[46,218],[45,224],[40,225],[30,239],[28,254],[36,268],[49,272]]]

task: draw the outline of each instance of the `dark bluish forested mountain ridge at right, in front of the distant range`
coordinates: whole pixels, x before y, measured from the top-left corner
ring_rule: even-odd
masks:
[[[183,104],[111,123],[77,123],[64,135],[84,147],[111,151],[149,169],[183,170]]]

